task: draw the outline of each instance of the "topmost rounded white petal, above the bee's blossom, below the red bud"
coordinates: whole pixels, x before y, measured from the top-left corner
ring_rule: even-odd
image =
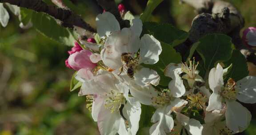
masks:
[[[111,32],[120,31],[116,17],[110,12],[103,12],[96,17],[97,33],[100,37],[109,36]]]

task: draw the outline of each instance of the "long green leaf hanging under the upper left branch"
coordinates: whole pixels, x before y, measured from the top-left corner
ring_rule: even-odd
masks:
[[[33,12],[32,23],[44,36],[48,36],[50,39],[56,40],[61,44],[73,46],[76,41],[70,30],[58,25],[56,21],[47,14]]]

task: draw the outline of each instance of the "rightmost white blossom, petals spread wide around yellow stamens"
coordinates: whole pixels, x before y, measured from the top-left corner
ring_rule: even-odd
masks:
[[[222,103],[225,102],[227,127],[235,133],[241,132],[248,127],[252,115],[247,108],[236,102],[236,99],[245,103],[256,103],[256,77],[247,76],[237,83],[233,79],[228,79],[228,83],[224,86],[223,74],[224,70],[220,64],[212,68],[209,73],[209,87],[212,89],[212,95],[206,110],[221,110]]]

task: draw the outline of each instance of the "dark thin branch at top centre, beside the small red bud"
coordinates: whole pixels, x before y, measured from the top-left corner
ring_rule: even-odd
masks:
[[[118,20],[121,28],[130,27],[129,20],[123,20],[116,6],[115,0],[97,0],[98,4],[107,12],[111,12]]]

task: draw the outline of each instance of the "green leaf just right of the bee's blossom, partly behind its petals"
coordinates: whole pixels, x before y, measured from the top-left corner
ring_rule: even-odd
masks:
[[[171,81],[171,78],[164,75],[165,67],[170,63],[181,63],[180,53],[176,52],[176,50],[169,44],[161,43],[162,52],[159,56],[159,61],[156,64],[143,64],[144,67],[148,67],[157,71],[160,75],[160,85],[168,86],[168,83]]]

